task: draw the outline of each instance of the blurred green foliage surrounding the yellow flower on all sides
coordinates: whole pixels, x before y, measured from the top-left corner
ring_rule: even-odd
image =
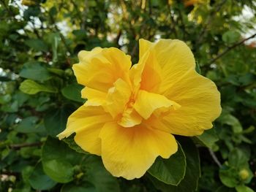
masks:
[[[255,0],[1,0],[0,191],[255,191],[255,12]],[[140,38],[187,42],[223,110],[214,129],[178,137],[173,158],[127,181],[55,136],[84,102],[78,52],[118,47],[135,64]]]

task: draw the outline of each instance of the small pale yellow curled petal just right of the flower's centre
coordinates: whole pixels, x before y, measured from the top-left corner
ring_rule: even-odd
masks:
[[[177,110],[181,106],[165,96],[140,90],[133,107],[144,119],[148,119],[159,108],[173,107],[173,110]]]

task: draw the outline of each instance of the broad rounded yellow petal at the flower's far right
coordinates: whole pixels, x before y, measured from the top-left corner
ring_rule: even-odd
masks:
[[[166,94],[167,98],[181,104],[181,108],[162,118],[162,123],[171,134],[195,136],[212,127],[219,117],[220,94],[216,85],[206,77],[189,72]],[[164,126],[157,123],[157,126]]]

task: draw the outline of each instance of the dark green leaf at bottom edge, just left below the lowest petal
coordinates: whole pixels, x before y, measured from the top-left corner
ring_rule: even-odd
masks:
[[[95,186],[97,192],[120,191],[116,177],[107,172],[100,157],[90,155],[83,164],[86,166],[86,180]]]

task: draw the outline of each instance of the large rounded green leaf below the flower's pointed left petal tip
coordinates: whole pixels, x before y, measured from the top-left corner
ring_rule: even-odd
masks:
[[[64,142],[48,137],[42,147],[42,166],[46,174],[59,183],[73,180],[74,166],[82,155],[71,150]]]

